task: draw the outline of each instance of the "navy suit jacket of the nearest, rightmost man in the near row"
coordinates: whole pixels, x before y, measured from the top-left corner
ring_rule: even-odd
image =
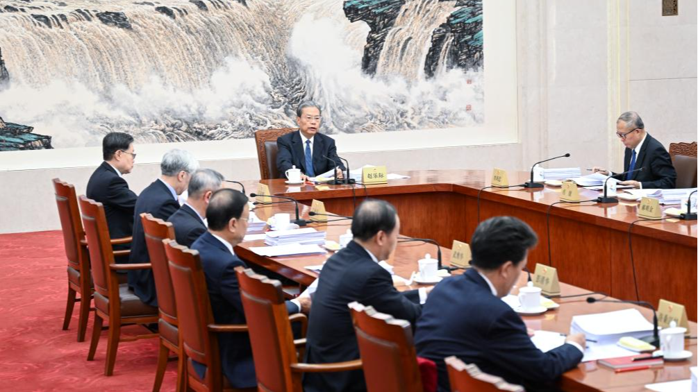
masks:
[[[417,355],[436,362],[440,392],[450,391],[443,361],[447,356],[455,355],[483,372],[523,384],[526,391],[550,389],[583,356],[568,344],[547,353],[537,349],[521,317],[492,295],[475,269],[436,285],[417,321],[415,346]]]

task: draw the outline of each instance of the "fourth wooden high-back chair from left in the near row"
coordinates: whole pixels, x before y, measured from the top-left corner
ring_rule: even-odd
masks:
[[[221,369],[217,334],[246,333],[247,326],[215,324],[199,252],[189,250],[176,241],[165,239],[163,244],[172,278],[174,300],[177,303],[179,336],[187,368],[187,388],[197,392],[257,391],[233,389]],[[192,361],[206,366],[203,378],[199,377]]]

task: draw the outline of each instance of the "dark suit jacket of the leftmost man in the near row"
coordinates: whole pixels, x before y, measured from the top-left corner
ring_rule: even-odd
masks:
[[[128,189],[111,165],[103,162],[87,181],[87,197],[104,204],[109,236],[112,239],[131,236],[133,233],[133,208],[138,196]]]

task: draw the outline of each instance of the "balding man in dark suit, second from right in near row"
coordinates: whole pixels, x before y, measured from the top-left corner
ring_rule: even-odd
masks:
[[[359,346],[347,304],[358,301],[378,312],[414,323],[426,292],[398,292],[392,276],[378,264],[395,249],[400,219],[394,206],[383,200],[367,200],[354,212],[354,240],[322,266],[313,296],[308,326],[306,362],[332,363],[359,359]],[[421,298],[420,298],[421,297]],[[361,370],[306,373],[306,392],[366,391]]]

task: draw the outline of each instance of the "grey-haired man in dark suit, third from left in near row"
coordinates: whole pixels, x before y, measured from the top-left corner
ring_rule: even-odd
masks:
[[[206,207],[211,195],[223,186],[223,175],[214,169],[198,169],[189,180],[188,197],[168,222],[174,225],[179,245],[191,247],[206,232]]]

